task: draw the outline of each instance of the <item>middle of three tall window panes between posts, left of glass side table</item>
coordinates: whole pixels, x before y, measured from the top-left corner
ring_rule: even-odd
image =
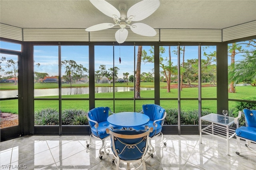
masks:
[[[198,121],[198,46],[180,46],[180,123]]]

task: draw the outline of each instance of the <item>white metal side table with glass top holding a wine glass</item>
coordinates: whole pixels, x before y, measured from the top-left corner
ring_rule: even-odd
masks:
[[[226,120],[225,120],[226,118]],[[200,132],[200,143],[202,143],[202,132],[211,136],[222,138],[227,142],[227,154],[230,155],[230,142],[229,140],[236,135],[236,128],[238,127],[238,119],[240,116],[234,118],[224,115],[218,115],[211,113],[200,117],[199,121],[199,132]],[[210,122],[211,125],[202,129],[202,121]],[[236,128],[230,127],[236,124]]]

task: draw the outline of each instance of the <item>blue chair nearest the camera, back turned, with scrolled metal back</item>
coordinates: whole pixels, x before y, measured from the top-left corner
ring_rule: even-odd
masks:
[[[119,169],[120,161],[127,163],[128,170],[131,162],[140,161],[140,165],[135,169],[143,165],[143,170],[146,170],[144,156],[148,150],[149,133],[152,131],[152,127],[146,130],[119,130],[112,127],[106,129],[106,132],[110,134],[114,156],[112,162],[116,164],[116,170]]]

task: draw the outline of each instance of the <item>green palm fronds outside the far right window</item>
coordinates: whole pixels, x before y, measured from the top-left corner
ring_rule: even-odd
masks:
[[[246,52],[245,58],[234,65],[230,71],[229,79],[234,83],[244,82],[256,86],[256,50]]]

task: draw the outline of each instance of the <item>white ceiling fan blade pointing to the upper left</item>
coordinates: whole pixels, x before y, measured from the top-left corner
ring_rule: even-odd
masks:
[[[90,2],[106,16],[116,18],[114,17],[115,15],[117,18],[120,18],[120,12],[105,0],[90,0]]]

